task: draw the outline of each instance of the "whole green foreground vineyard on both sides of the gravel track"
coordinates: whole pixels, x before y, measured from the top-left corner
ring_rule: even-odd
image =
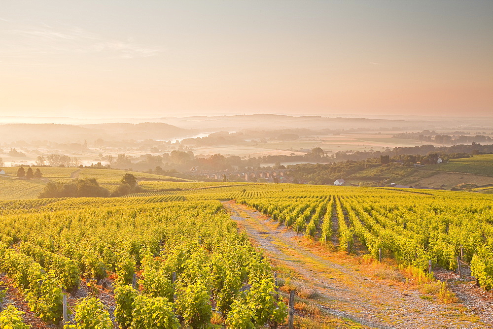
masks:
[[[268,183],[141,183],[168,191],[0,202],[0,273],[6,273],[42,321],[63,322],[65,295],[68,328],[255,328],[283,323],[287,310],[272,268],[218,200],[234,199],[330,248],[353,253],[360,245],[374,260],[392,259],[423,273],[430,261],[433,267],[454,270],[460,257],[481,287],[493,288],[489,195]],[[94,293],[101,285],[109,287],[105,300]],[[87,293],[77,296],[77,291]],[[15,318],[16,312],[8,307],[2,316]]]

